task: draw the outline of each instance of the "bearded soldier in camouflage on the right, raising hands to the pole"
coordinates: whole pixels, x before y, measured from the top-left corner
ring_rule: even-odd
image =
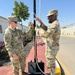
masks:
[[[45,57],[46,57],[46,63],[49,72],[51,75],[55,75],[55,57],[59,50],[59,39],[61,34],[61,29],[59,22],[57,20],[58,11],[57,10],[51,10],[49,11],[47,17],[49,23],[51,23],[48,27],[44,25],[44,23],[39,19],[36,18],[40,23],[40,27],[44,30],[44,33],[41,34],[42,37],[46,38],[46,51],[45,51]]]

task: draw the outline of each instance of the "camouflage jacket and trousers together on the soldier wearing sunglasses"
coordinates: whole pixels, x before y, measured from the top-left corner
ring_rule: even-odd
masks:
[[[13,64],[13,70],[15,75],[19,75],[19,69],[24,71],[25,67],[25,53],[23,48],[23,43],[21,39],[21,31],[19,29],[10,29],[9,27],[5,30],[4,33],[4,42],[5,47],[8,50],[10,60]],[[13,54],[18,55],[19,59],[15,60]]]

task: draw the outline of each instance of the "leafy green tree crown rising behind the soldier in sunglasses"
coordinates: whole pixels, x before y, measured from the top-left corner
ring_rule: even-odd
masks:
[[[17,1],[14,2],[15,7],[13,8],[14,13],[12,15],[16,15],[19,22],[22,22],[22,20],[26,20],[29,17],[28,13],[28,7],[23,3],[18,3]]]

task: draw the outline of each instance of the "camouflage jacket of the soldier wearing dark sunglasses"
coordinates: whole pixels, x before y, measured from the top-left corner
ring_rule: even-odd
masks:
[[[4,42],[7,51],[16,53],[18,49],[23,49],[22,31],[19,29],[10,29],[9,27],[4,32]]]

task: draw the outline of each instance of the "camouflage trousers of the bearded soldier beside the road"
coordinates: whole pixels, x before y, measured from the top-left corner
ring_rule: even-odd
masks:
[[[59,46],[54,46],[54,47],[46,46],[46,51],[45,51],[46,64],[51,75],[55,75],[55,68],[56,68],[55,59],[58,50]]]

